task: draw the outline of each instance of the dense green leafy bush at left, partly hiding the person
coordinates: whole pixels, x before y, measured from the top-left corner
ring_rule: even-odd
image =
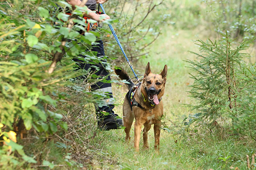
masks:
[[[84,96],[84,103],[80,104],[83,106],[88,102],[100,105],[101,98],[107,96],[89,91],[90,84],[104,78],[97,79],[90,70],[76,70],[73,61],[81,54],[87,56],[84,62],[101,62],[110,69],[106,61],[89,51],[99,33],[84,29],[82,16],[87,7],[76,8],[71,16],[64,13],[65,8],[71,8],[66,1],[52,0],[22,3],[14,0],[11,4],[6,1],[0,4],[0,123],[4,125],[3,134],[15,130],[17,135],[23,135],[24,131],[32,129],[31,133],[44,134],[48,138],[60,129],[67,130],[66,110],[61,106],[69,102],[70,96],[61,88],[79,91]],[[86,32],[84,35],[79,33],[81,29]],[[81,75],[86,79],[84,84],[78,85],[76,77]],[[3,141],[0,142],[0,168],[41,164],[26,156],[30,150],[25,154],[23,146],[10,141],[15,143],[12,151],[17,150],[19,154],[9,153]]]

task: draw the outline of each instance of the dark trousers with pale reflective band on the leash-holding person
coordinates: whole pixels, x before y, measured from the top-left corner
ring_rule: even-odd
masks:
[[[99,44],[93,46],[91,48],[91,51],[96,51],[97,52],[97,57],[104,57],[105,56],[105,52],[104,52],[104,45],[102,40],[97,41]],[[81,57],[85,57],[85,56],[81,56]],[[96,68],[91,67],[93,65],[88,64],[88,63],[84,63],[83,61],[79,60],[79,59],[74,59],[74,61],[77,62],[77,64],[79,65],[79,69],[86,69],[88,70],[89,68],[91,68],[91,71],[96,71]],[[97,71],[95,74],[99,77],[107,77],[106,80],[111,80],[109,72],[104,68],[104,65],[102,65],[101,63],[96,64],[95,66],[97,66],[99,68],[99,71]],[[105,101],[105,106],[102,107],[98,107],[95,106],[96,108],[96,114],[97,117],[99,119],[105,117],[107,118],[108,116],[104,116],[102,114],[102,111],[108,112],[110,114],[113,114],[113,93],[112,93],[112,86],[111,83],[105,83],[102,81],[97,82],[94,85],[91,85],[91,90],[92,91],[100,91],[100,92],[104,92],[108,95],[108,99],[103,99]]]

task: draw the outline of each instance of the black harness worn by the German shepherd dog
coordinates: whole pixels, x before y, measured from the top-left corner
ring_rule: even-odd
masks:
[[[137,86],[137,88],[139,88],[139,86],[141,85],[141,82],[140,82],[140,84]],[[131,110],[132,110],[132,107],[133,106],[138,106],[139,108],[142,108],[142,109],[145,109],[145,108],[143,108],[141,105],[140,105],[140,103],[138,103],[135,99],[134,99],[134,94],[135,94],[135,92],[136,92],[136,90],[137,90],[137,88],[131,88],[129,91],[128,91],[128,93],[126,94],[126,98],[128,99],[128,102],[129,102],[129,104],[130,104],[130,107],[131,107]],[[143,98],[144,98],[144,96],[143,96]],[[161,98],[162,99],[162,98]],[[161,101],[161,99],[158,99],[159,100],[159,102]],[[147,100],[145,100],[145,98],[144,98],[144,102],[146,102]],[[148,101],[148,102],[150,102],[150,101]],[[151,103],[151,106],[152,107],[154,107],[155,106],[155,103],[152,101],[152,102],[150,102]]]

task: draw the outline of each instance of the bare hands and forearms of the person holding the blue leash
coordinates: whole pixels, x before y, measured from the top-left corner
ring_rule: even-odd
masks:
[[[75,6],[79,6],[81,4],[80,0],[66,0],[67,3],[69,3],[70,5],[72,5],[73,7]],[[100,1],[99,3],[102,3],[102,1],[104,1],[103,3],[107,2],[108,0],[98,0]],[[110,17],[107,14],[96,14],[95,12],[93,12],[92,10],[90,10],[89,8],[87,9],[89,12],[88,14],[84,14],[85,17],[91,18],[93,20],[96,21],[105,21],[110,19]],[[100,17],[104,16],[105,18],[103,18],[102,20],[100,20]]]

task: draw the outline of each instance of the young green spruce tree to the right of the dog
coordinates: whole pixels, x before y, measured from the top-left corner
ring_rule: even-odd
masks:
[[[221,34],[221,33],[220,33]],[[191,97],[198,101],[192,108],[199,113],[194,119],[208,125],[232,127],[233,132],[254,138],[255,124],[255,66],[247,66],[241,53],[249,42],[243,41],[233,48],[233,39],[227,34],[218,42],[198,40],[203,54],[196,54],[190,68],[194,83]]]

